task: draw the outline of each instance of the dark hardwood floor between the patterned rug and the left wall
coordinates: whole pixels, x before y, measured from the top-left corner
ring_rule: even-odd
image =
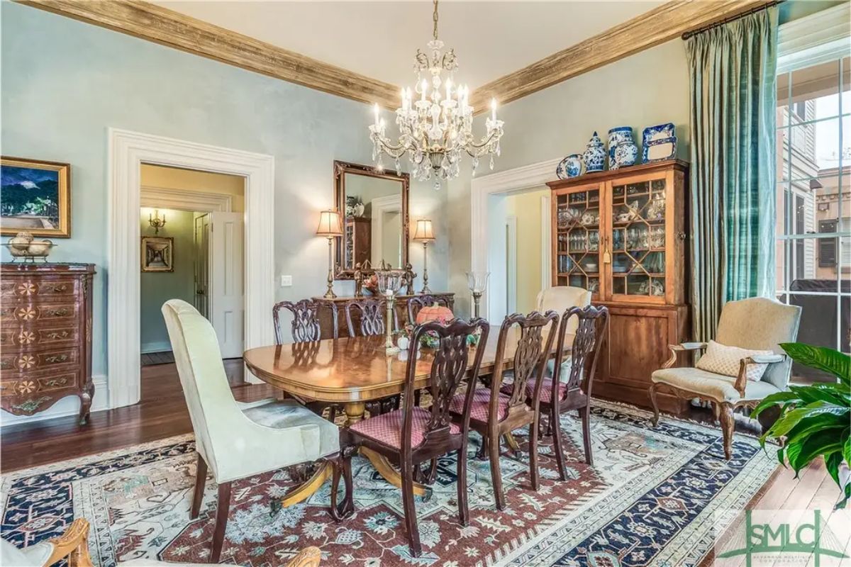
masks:
[[[242,359],[225,361],[228,380],[237,400],[260,400],[275,395],[266,384],[243,382],[243,368]],[[93,412],[88,425],[81,426],[77,417],[68,416],[4,427],[0,439],[0,471],[8,473],[18,468],[191,433],[189,411],[174,364],[144,366],[141,371],[140,403]]]

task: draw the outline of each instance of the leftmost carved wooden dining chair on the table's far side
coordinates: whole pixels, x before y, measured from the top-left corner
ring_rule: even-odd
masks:
[[[275,344],[283,344],[283,328],[281,325],[281,312],[286,309],[293,316],[291,322],[291,335],[293,343],[304,344],[305,354],[311,354],[315,349],[318,352],[318,341],[322,338],[322,326],[319,322],[319,309],[325,306],[327,302],[316,299],[300,299],[299,301],[281,301],[275,303],[271,308],[271,317],[275,323]],[[337,310],[333,305],[329,306],[333,314],[334,338],[337,338]],[[315,353],[314,353],[315,354]],[[306,356],[306,360],[311,360]],[[322,416],[328,409],[328,421],[334,422],[337,415],[340,413],[340,405],[329,404],[322,401],[299,400],[306,405],[311,411]]]

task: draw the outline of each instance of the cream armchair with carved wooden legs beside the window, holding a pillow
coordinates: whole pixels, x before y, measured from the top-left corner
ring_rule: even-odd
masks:
[[[738,360],[738,376],[731,377],[700,368],[672,367],[677,362],[677,354],[706,349],[709,343],[672,344],[671,358],[651,377],[654,426],[659,422],[656,393],[660,389],[667,389],[681,398],[708,401],[721,421],[724,456],[729,459],[733,452],[733,412],[740,407],[755,406],[768,394],[785,390],[789,384],[791,360],[779,345],[795,340],[800,320],[800,307],[774,299],[748,298],[726,303],[718,320],[717,343],[766,352]],[[767,365],[759,380],[747,377],[748,368],[753,365]]]

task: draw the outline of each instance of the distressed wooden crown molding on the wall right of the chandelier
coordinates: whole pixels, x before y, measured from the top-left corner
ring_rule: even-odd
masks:
[[[471,105],[477,112],[487,111],[490,99],[497,99],[500,105],[505,105],[671,41],[686,31],[709,26],[767,3],[766,0],[672,0],[519,71],[488,82],[473,91]],[[648,69],[648,72],[653,71]]]

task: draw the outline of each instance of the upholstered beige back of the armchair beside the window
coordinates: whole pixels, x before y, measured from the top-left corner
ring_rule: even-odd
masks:
[[[795,341],[801,308],[775,299],[747,298],[728,301],[721,309],[715,340],[740,349],[771,349],[783,354],[780,343]],[[768,365],[762,381],[785,389],[789,383],[791,360]]]

